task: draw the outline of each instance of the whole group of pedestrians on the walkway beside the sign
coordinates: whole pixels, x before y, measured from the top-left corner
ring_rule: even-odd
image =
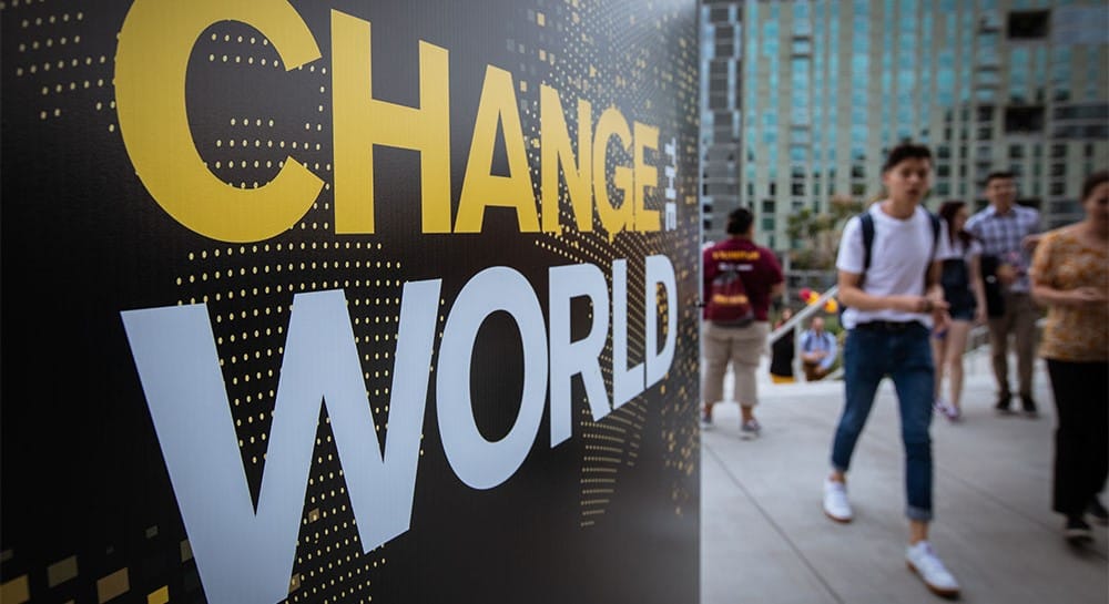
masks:
[[[754,409],[763,354],[771,352],[774,383],[794,381],[795,354],[810,381],[827,377],[842,361],[843,411],[831,434],[822,506],[832,521],[849,523],[852,457],[878,385],[888,377],[905,457],[905,560],[932,592],[957,597],[958,581],[929,540],[930,424],[934,414],[952,422],[963,418],[963,351],[976,324],[989,334],[994,408],[1011,414],[1016,400],[1019,412],[1037,418],[1032,366],[1037,324],[1047,309],[1038,354],[1058,421],[1052,510],[1062,515],[1062,535],[1076,545],[1092,540],[1090,520],[1109,522],[1099,500],[1109,474],[1109,172],[1087,178],[1080,222],[1045,233],[1039,212],[1017,203],[1016,177],[1006,172],[986,178],[984,209],[971,215],[964,202],[948,201],[936,214],[928,212],[924,199],[933,167],[928,147],[896,146],[882,170],[884,197],[845,224],[835,263],[842,345],[818,316],[795,340],[797,318],[788,309],[775,325],[788,329],[767,342],[771,309],[784,288],[782,269],[773,252],[754,243],[751,212],[730,214],[729,238],[708,247],[702,258],[701,421],[704,429],[712,427],[729,365],[740,434],[754,439],[761,432]],[[740,310],[745,318],[721,319]],[[1016,388],[1009,382],[1010,338]]]

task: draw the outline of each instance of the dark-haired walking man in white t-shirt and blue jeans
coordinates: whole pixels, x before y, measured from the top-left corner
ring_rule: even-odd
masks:
[[[934,593],[956,596],[958,583],[928,542],[935,377],[928,335],[933,326],[943,328],[949,320],[936,262],[946,250],[945,237],[938,219],[920,207],[930,176],[928,147],[894,147],[882,168],[888,197],[852,218],[843,232],[836,268],[840,300],[847,307],[845,401],[832,444],[832,472],[824,481],[824,513],[837,522],[854,518],[846,473],[878,383],[889,376],[905,448],[906,562]]]

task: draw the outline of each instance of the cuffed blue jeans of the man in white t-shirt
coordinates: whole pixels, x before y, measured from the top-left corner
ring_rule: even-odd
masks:
[[[905,490],[910,520],[932,520],[932,426],[935,368],[928,330],[920,324],[899,329],[867,329],[847,334],[843,351],[845,402],[832,444],[832,467],[846,472],[863,432],[882,378],[889,376],[901,408],[905,444]]]

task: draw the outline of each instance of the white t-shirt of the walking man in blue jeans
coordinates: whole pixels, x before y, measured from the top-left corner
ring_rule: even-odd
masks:
[[[933,254],[933,231],[928,213],[917,207],[912,217],[898,219],[882,211],[882,204],[871,205],[874,218],[874,243],[871,246],[871,267],[863,278],[863,291],[872,296],[924,295],[924,274],[936,258],[950,255],[947,227],[940,221],[939,240]],[[858,216],[847,221],[840,240],[835,266],[847,273],[863,273],[863,228]],[[853,329],[871,321],[920,321],[932,327],[932,315],[902,310],[859,310],[847,307],[843,311],[843,326]]]

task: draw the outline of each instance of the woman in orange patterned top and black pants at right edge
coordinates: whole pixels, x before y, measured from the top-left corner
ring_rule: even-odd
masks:
[[[1082,185],[1086,218],[1042,236],[1032,259],[1032,296],[1050,307],[1040,345],[1059,428],[1052,509],[1071,543],[1091,541],[1089,512],[1109,473],[1109,172]]]

